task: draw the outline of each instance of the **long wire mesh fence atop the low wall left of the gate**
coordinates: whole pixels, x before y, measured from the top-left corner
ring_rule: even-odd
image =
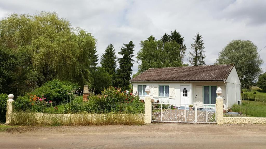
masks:
[[[14,112],[144,114],[144,103],[32,103],[14,106]]]

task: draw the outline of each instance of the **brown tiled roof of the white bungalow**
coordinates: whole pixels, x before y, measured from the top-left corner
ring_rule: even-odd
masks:
[[[130,81],[225,81],[234,64],[150,68]]]

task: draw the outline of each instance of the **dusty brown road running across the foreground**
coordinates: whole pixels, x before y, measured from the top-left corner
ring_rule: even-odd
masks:
[[[20,127],[0,148],[266,148],[266,125]]]

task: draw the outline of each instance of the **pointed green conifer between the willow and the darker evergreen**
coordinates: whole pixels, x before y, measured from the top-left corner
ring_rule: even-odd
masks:
[[[105,52],[101,56],[101,65],[107,73],[112,75],[113,84],[115,77],[115,69],[117,68],[117,56],[115,55],[114,45],[110,44],[106,47]]]

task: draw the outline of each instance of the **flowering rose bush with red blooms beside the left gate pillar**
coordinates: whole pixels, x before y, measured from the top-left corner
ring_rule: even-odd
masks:
[[[103,113],[143,113],[144,104],[140,102],[139,96],[133,94],[133,90],[122,91],[121,88],[108,87],[102,94],[90,95],[88,102],[84,103],[81,111]]]

